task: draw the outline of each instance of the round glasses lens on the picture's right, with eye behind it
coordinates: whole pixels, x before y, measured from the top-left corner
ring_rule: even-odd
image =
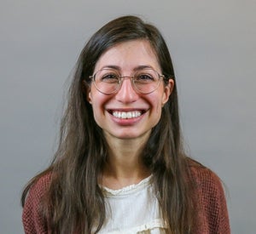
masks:
[[[160,75],[153,69],[137,71],[134,75],[133,84],[143,94],[149,94],[158,88]]]

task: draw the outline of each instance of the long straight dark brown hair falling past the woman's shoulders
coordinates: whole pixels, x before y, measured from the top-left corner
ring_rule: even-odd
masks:
[[[148,40],[162,73],[175,80],[171,56],[160,31],[136,16],[110,21],[86,43],[73,73],[54,160],[26,185],[21,198],[24,205],[31,186],[44,174],[51,174],[42,208],[53,233],[91,233],[93,227],[97,232],[105,220],[104,197],[97,181],[108,157],[108,147],[87,101],[89,76],[103,52],[117,43],[136,39]],[[189,233],[192,226],[188,159],[182,145],[175,85],[143,151],[143,162],[153,174],[161,214],[170,233]]]

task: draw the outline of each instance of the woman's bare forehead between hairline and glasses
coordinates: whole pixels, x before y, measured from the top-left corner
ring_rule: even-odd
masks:
[[[160,71],[157,56],[147,40],[132,40],[114,45],[97,60],[95,71],[111,66],[118,67],[121,71],[132,71],[138,66],[150,66]]]

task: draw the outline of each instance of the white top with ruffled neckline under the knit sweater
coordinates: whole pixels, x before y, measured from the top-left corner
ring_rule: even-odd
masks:
[[[102,187],[107,213],[100,234],[166,233],[150,179],[119,190]]]

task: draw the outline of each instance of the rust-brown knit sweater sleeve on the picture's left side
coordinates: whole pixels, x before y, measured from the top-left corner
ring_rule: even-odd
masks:
[[[41,209],[41,201],[49,185],[49,174],[44,175],[32,185],[22,212],[22,223],[26,234],[46,234],[47,222]]]

